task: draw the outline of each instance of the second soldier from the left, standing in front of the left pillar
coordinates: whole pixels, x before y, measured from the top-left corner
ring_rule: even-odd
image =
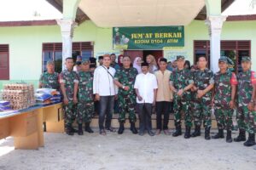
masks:
[[[76,118],[75,105],[78,103],[77,98],[74,98],[74,84],[79,83],[78,74],[73,71],[73,59],[66,59],[67,70],[61,71],[60,83],[61,92],[63,94],[63,111],[65,114],[65,127],[68,135],[73,135],[75,130],[72,127],[73,121]]]

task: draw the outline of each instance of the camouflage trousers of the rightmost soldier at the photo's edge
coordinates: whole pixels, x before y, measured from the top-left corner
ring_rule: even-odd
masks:
[[[255,116],[256,111],[249,111],[247,106],[239,106],[236,115],[238,127],[246,129],[247,133],[255,133]]]

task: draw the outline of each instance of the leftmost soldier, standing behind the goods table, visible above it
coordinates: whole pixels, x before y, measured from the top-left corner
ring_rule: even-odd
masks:
[[[48,61],[46,65],[47,71],[45,71],[39,79],[39,88],[54,88],[59,90],[60,84],[58,82],[59,74],[55,72],[55,63]]]

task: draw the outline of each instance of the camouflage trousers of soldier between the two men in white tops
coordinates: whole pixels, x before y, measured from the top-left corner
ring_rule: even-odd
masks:
[[[119,96],[119,122],[125,122],[125,114],[129,114],[130,122],[136,122],[137,117],[135,115],[135,99],[131,96]]]

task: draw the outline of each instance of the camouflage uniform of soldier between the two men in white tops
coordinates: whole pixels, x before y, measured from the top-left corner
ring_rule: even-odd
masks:
[[[135,83],[135,78],[137,76],[136,68],[120,68],[114,75],[115,80],[119,81],[124,86],[128,86],[130,89],[125,91],[119,88],[119,122],[125,122],[125,113],[129,113],[130,122],[136,122],[135,115],[135,104],[136,104],[136,94],[133,88]]]

